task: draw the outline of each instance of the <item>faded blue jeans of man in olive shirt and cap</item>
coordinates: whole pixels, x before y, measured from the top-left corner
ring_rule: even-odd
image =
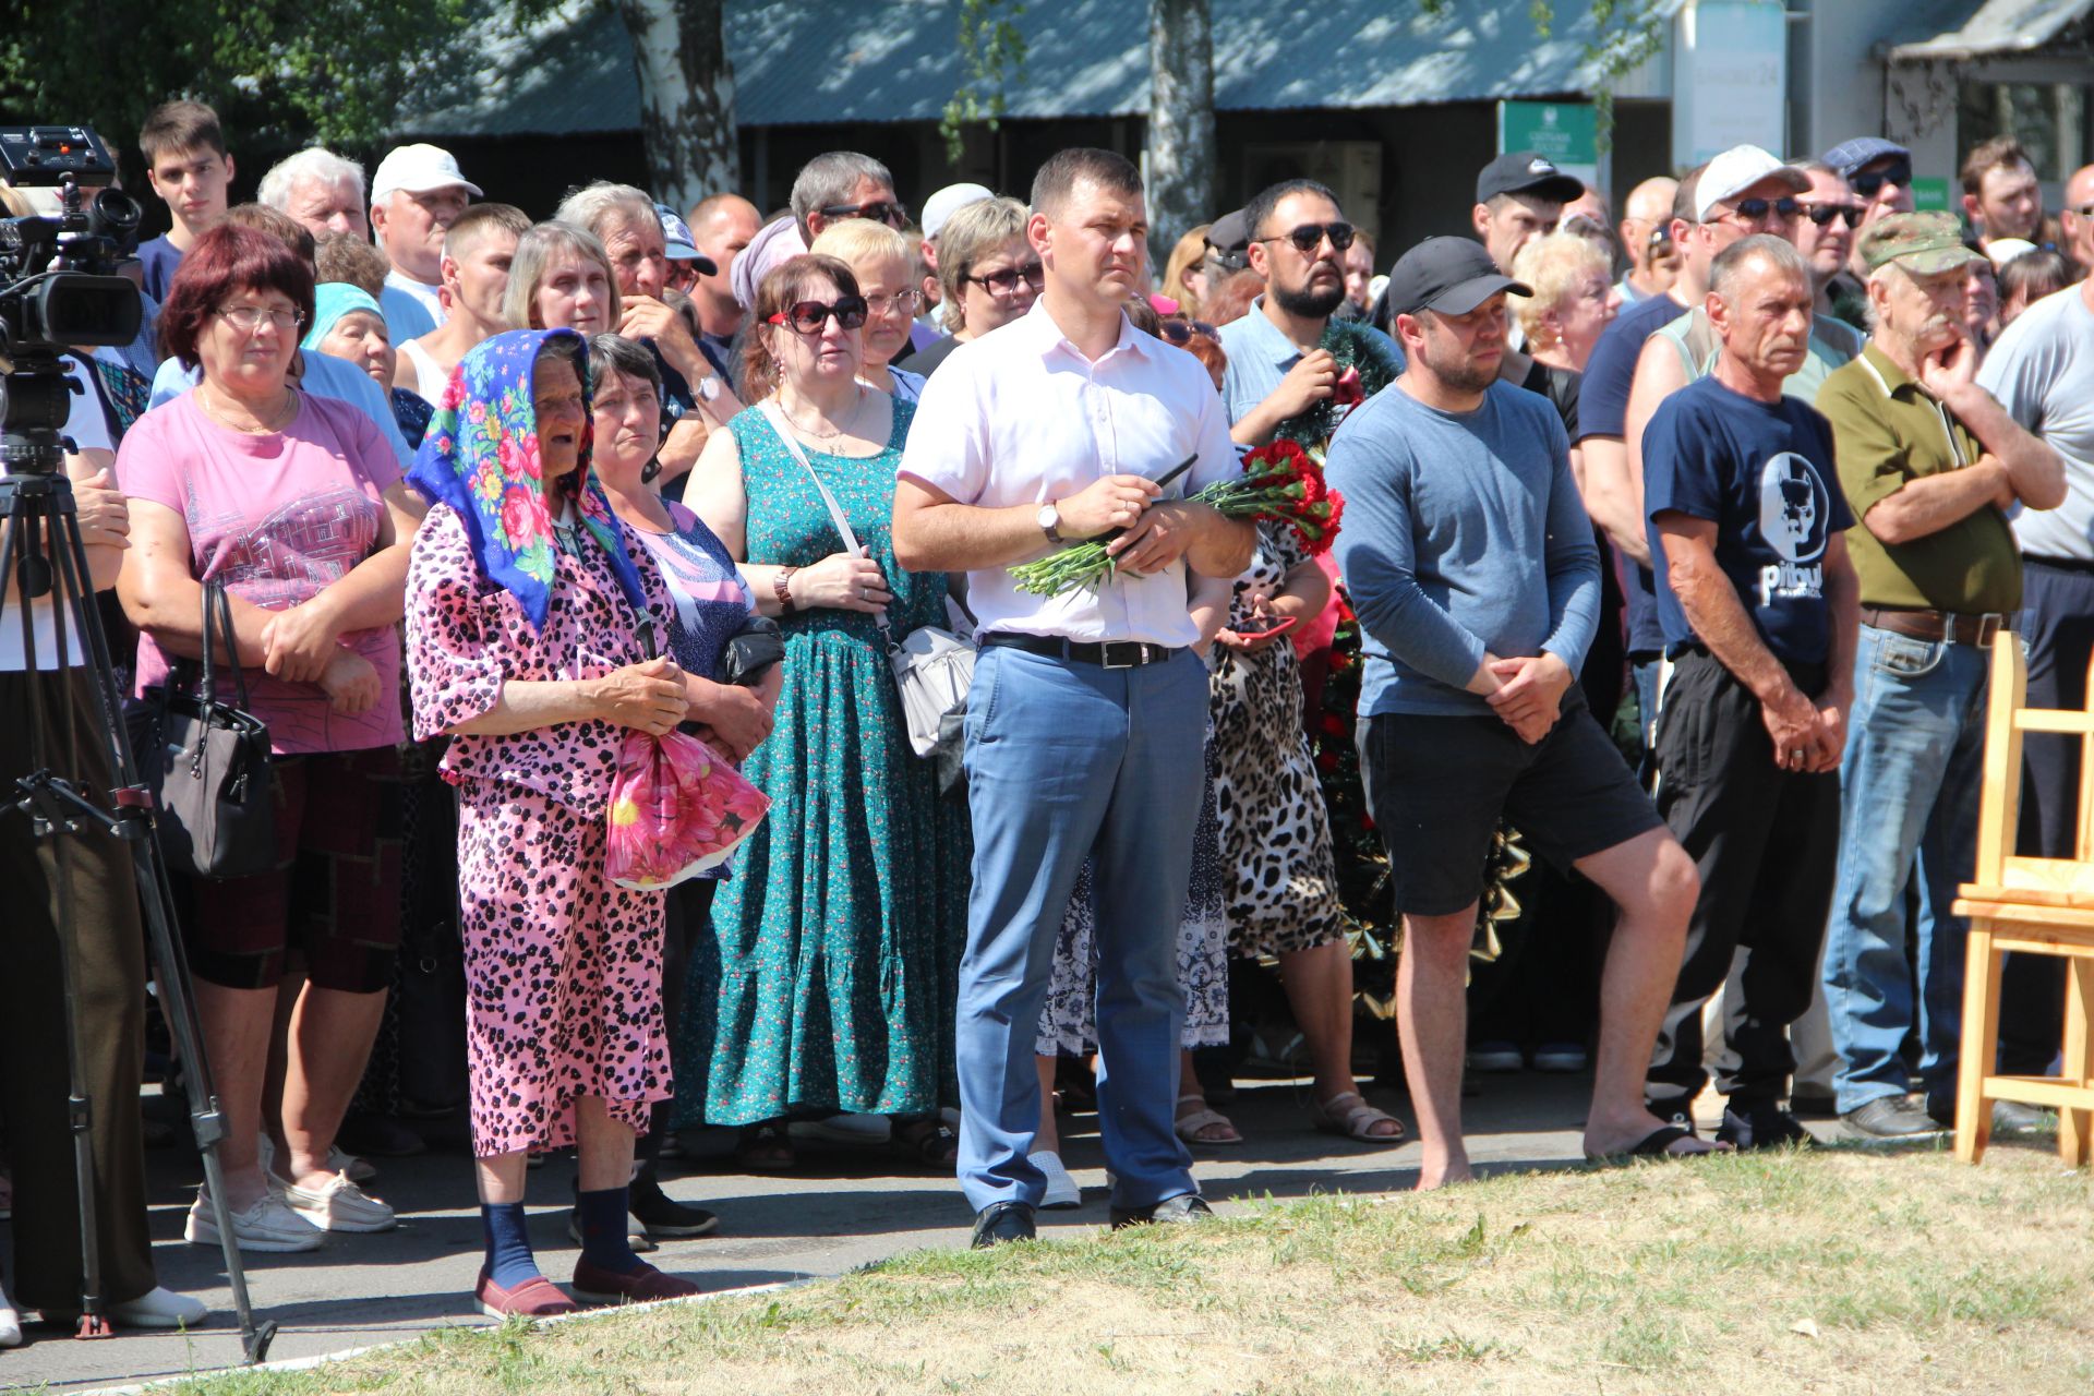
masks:
[[[1910,1084],[1899,1044],[1916,1030],[1935,1105],[1956,1099],[1968,927],[1950,915],[1977,860],[1991,651],[1862,626],[1841,762],[1841,846],[1826,927],[1826,1011],[1845,1113]],[[1906,887],[1918,871],[1912,965]],[[1918,992],[1914,992],[1914,975]]]

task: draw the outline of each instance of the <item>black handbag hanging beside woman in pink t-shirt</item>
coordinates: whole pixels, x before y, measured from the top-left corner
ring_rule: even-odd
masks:
[[[211,651],[235,655],[239,705],[218,701]],[[188,670],[184,663],[182,670]],[[276,862],[268,724],[247,712],[247,676],[222,582],[203,584],[203,666],[184,693],[176,674],[153,705],[153,745],[140,751],[153,789],[153,827],[168,866],[193,877],[251,877]]]

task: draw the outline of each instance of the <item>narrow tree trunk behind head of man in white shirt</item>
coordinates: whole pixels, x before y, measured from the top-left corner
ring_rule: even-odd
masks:
[[[1162,266],[1215,207],[1215,31],[1208,0],[1150,0],[1150,247]]]

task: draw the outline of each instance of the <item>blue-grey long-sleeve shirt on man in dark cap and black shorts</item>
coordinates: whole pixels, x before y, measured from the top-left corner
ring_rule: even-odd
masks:
[[[1441,412],[1403,383],[1338,427],[1338,569],[1359,615],[1359,712],[1483,716],[1485,651],[1558,655],[1573,674],[1600,624],[1600,550],[1547,398],[1493,383]]]

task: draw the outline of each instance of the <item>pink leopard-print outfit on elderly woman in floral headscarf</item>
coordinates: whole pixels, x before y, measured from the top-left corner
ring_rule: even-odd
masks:
[[[637,540],[658,634],[670,601]],[[532,630],[517,599],[473,561],[459,515],[429,511],[406,576],[415,735],[431,737],[500,699],[507,680],[595,678],[647,655],[616,573],[597,548],[561,553],[553,605]],[[563,722],[459,737],[444,779],[459,787],[459,929],[465,940],[473,1153],[574,1143],[576,1097],[647,1132],[670,1099],[662,1021],[662,894],[603,875],[603,806],[624,733]]]

